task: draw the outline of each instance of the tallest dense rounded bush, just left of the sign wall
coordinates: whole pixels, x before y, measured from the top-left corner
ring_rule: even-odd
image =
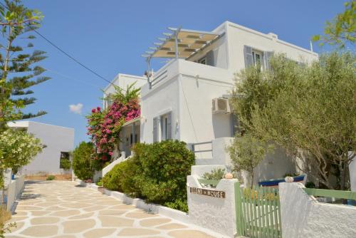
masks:
[[[186,200],[187,175],[194,165],[194,153],[184,142],[164,140],[160,143],[137,144],[135,157],[142,171],[135,182],[147,202]]]

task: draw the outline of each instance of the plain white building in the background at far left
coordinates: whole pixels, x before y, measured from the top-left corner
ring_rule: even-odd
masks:
[[[58,125],[36,123],[33,121],[17,121],[8,123],[10,128],[26,130],[41,140],[45,145],[42,152],[26,166],[22,167],[23,175],[37,173],[61,174],[61,159],[69,159],[69,152],[74,146],[74,129],[64,128]]]

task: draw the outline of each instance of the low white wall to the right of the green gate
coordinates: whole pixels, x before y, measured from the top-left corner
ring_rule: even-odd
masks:
[[[282,237],[355,238],[356,207],[317,202],[297,182],[281,182]]]

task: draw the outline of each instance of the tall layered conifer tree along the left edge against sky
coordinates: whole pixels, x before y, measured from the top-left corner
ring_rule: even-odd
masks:
[[[9,120],[46,113],[21,112],[21,108],[36,100],[26,96],[33,93],[29,88],[49,79],[41,76],[45,69],[36,65],[46,58],[46,52],[31,52],[31,39],[35,38],[31,32],[39,28],[41,19],[39,11],[27,9],[20,0],[5,0],[5,4],[0,6],[1,34],[5,42],[0,44],[0,129],[4,129]]]

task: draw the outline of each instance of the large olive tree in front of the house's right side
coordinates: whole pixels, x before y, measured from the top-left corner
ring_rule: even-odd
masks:
[[[345,190],[356,150],[355,62],[352,53],[330,53],[310,64],[278,55],[271,71],[239,74],[234,111],[249,133],[286,148],[320,185]]]

